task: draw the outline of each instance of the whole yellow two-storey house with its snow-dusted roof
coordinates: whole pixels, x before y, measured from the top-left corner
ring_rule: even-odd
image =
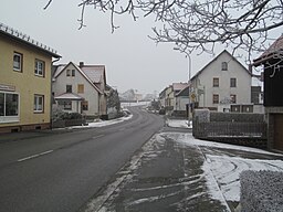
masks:
[[[56,52],[0,23],[0,132],[46,129]]]

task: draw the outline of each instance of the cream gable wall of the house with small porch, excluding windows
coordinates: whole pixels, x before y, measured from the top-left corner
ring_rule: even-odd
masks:
[[[66,76],[66,70],[75,70],[75,76]],[[77,85],[84,84],[84,93],[77,93]],[[86,116],[99,115],[99,95],[91,83],[76,70],[72,64],[69,64],[53,82],[52,91],[54,96],[66,93],[66,85],[72,85],[72,93],[77,94],[88,102],[88,110],[83,110]],[[80,107],[81,108],[81,107]],[[77,112],[76,102],[72,103],[72,112]],[[78,112],[81,113],[81,112]]]

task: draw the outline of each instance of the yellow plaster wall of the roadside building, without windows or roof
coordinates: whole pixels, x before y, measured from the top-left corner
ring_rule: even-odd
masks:
[[[13,54],[21,53],[23,56],[22,72],[13,71]],[[35,76],[35,59],[44,61],[44,77]],[[49,127],[50,124],[50,96],[51,96],[51,63],[52,56],[17,41],[0,35],[0,85],[13,87],[11,93],[19,94],[19,117],[17,121],[10,123],[9,118],[0,117],[0,128],[33,125]],[[8,92],[2,88],[0,92]],[[34,95],[44,96],[43,113],[34,113]],[[28,125],[32,125],[28,127]],[[21,130],[21,129],[19,129]]]

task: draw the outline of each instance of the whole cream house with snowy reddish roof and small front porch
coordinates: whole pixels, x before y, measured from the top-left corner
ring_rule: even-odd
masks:
[[[90,118],[107,115],[105,66],[70,62],[57,65],[52,78],[52,95],[57,107]]]

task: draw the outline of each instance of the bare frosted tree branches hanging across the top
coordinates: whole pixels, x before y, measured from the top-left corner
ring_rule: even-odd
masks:
[[[49,0],[46,7],[52,2]],[[82,0],[80,18],[93,7],[109,11],[114,31],[115,15],[154,15],[161,26],[154,28],[156,42],[172,42],[182,52],[213,52],[217,43],[249,53],[263,51],[270,31],[283,24],[283,0]]]

